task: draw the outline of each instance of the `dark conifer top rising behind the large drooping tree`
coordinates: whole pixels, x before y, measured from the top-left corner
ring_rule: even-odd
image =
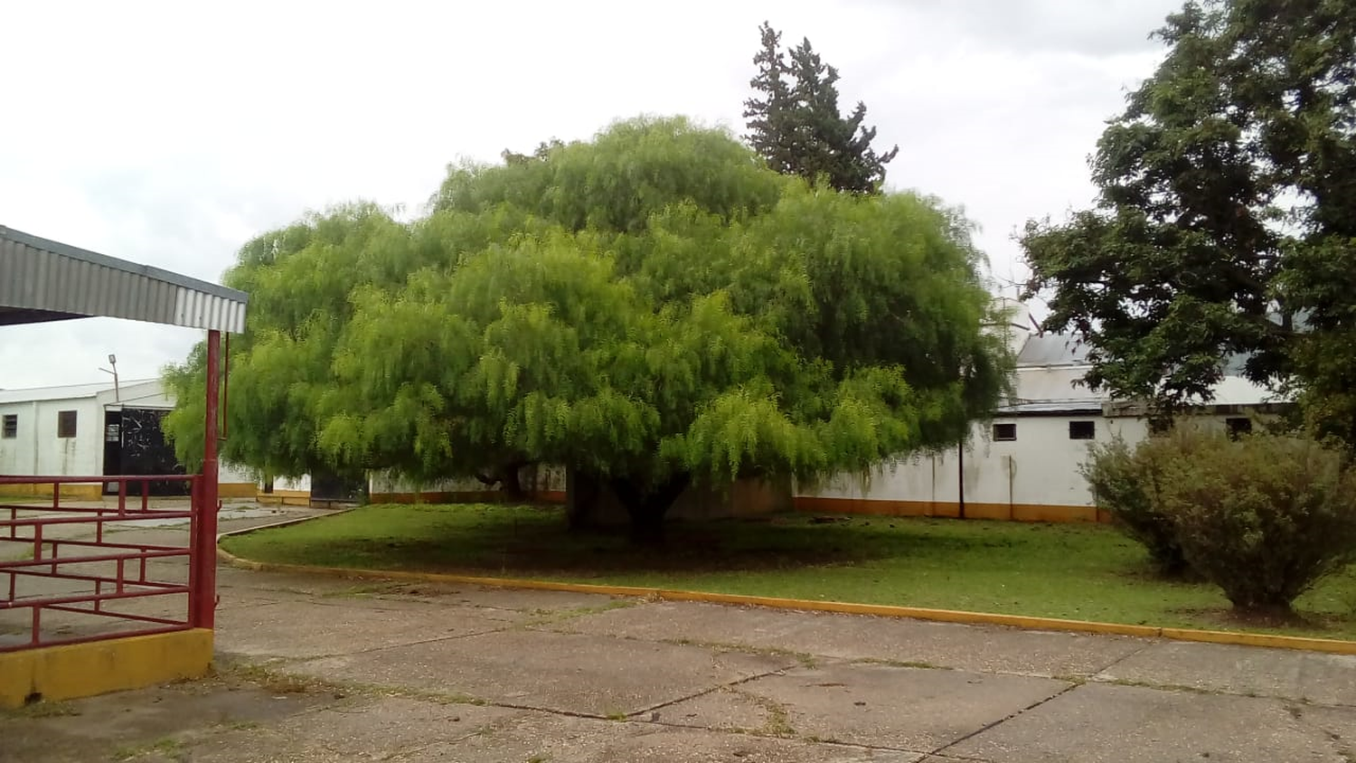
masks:
[[[899,146],[877,154],[876,127],[866,127],[866,104],[858,102],[849,117],[838,111],[838,69],[814,51],[810,39],[782,51],[781,33],[763,22],[762,47],[754,56],[758,73],[750,85],[761,94],[744,102],[749,144],[769,167],[816,182],[827,176],[841,191],[876,192],[885,182],[885,165]]]

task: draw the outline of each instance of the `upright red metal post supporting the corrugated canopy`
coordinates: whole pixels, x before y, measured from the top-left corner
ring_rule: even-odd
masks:
[[[207,415],[202,435],[202,477],[198,485],[198,537],[190,564],[194,576],[194,627],[212,627],[217,613],[217,420],[221,384],[221,332],[207,332]]]

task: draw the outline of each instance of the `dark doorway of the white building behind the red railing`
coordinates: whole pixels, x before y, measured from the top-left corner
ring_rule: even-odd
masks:
[[[165,440],[160,424],[168,411],[155,408],[123,408],[108,411],[103,423],[103,473],[114,474],[183,474],[175,458],[174,446]],[[148,485],[153,496],[188,495],[187,481],[157,480]],[[104,495],[115,495],[118,487],[104,482]],[[127,485],[127,495],[141,495],[141,482]]]

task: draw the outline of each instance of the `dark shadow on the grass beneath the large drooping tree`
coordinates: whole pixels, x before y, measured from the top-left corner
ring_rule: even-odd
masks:
[[[671,520],[662,545],[637,546],[625,527],[567,530],[559,507],[367,507],[235,538],[228,548],[251,558],[281,556],[327,566],[591,577],[800,569],[902,557],[941,561],[986,550],[998,557],[1026,550],[1048,554],[1060,535],[1073,548],[1090,530],[1047,527],[1033,534],[1014,533],[1014,527],[991,531],[989,524],[804,515]]]

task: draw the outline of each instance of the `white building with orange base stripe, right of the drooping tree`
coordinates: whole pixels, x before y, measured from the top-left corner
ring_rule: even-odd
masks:
[[[1089,446],[1149,435],[1142,407],[1112,401],[1077,384],[1090,365],[1088,346],[1067,335],[1043,335],[1020,310],[1008,328],[1017,355],[1016,398],[997,417],[975,423],[963,447],[881,466],[869,480],[839,477],[801,485],[803,511],[898,516],[965,516],[1045,522],[1106,520],[1081,473]],[[1193,413],[1234,431],[1273,403],[1269,390],[1233,375]]]

